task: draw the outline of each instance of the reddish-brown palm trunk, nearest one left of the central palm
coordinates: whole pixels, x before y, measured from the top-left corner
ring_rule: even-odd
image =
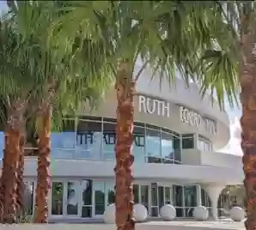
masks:
[[[38,133],[39,157],[34,223],[47,223],[48,221],[48,192],[51,186],[51,119],[52,107],[48,102],[45,102],[43,103],[40,111],[41,124]]]

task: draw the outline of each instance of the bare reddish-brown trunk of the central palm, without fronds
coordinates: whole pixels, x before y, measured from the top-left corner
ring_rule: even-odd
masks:
[[[128,63],[119,64],[117,71],[117,140],[115,144],[116,166],[116,225],[118,230],[134,230],[133,192],[131,165],[134,157],[131,154],[133,142],[133,96],[135,83]]]

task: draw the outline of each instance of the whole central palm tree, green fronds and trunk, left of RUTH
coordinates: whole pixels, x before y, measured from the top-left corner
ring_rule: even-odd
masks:
[[[113,67],[118,100],[114,169],[118,229],[134,229],[131,145],[135,83],[147,66],[153,69],[153,76],[167,77],[170,85],[175,70],[186,83],[194,78],[194,56],[214,44],[204,9],[204,4],[176,1],[65,2],[61,10],[66,14],[55,23],[60,41],[82,29],[83,38],[102,40],[107,50],[102,55]],[[143,67],[134,77],[137,58],[142,59]],[[223,85],[231,88],[228,81]]]

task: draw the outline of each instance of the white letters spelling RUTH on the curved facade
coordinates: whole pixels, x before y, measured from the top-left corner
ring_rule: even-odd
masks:
[[[170,117],[170,103],[165,100],[156,100],[138,95],[138,111]]]

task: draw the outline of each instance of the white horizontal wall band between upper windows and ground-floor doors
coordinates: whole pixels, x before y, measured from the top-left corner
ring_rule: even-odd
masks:
[[[54,177],[68,178],[113,178],[114,162],[90,160],[52,160],[51,173]],[[36,177],[36,158],[25,160],[25,177]],[[182,184],[240,184],[243,180],[241,168],[221,166],[186,166],[168,164],[134,164],[135,179],[151,181],[174,181]]]

